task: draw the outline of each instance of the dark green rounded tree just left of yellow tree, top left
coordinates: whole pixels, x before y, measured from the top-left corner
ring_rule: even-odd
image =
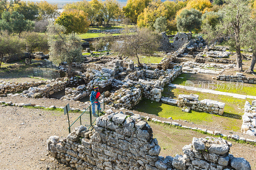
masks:
[[[39,7],[34,2],[21,1],[19,4],[14,5],[14,11],[19,12],[19,14],[24,15],[25,19],[35,20],[39,13]]]

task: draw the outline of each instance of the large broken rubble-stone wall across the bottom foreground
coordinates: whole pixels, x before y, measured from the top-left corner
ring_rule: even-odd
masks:
[[[122,112],[98,117],[94,130],[83,125],[67,137],[51,136],[47,151],[77,170],[251,170],[244,158],[229,154],[222,138],[193,138],[183,156],[159,156],[161,147],[142,117]]]

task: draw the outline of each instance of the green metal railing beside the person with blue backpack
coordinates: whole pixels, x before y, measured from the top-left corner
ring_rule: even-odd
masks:
[[[90,129],[94,125],[94,122],[97,119],[97,117],[99,117],[105,110],[105,92],[101,94],[101,97],[103,99],[101,103],[99,99],[94,100],[93,103],[90,104],[90,106],[88,106],[84,110],[84,112],[79,117],[77,117],[77,119],[68,127],[69,133],[71,132],[71,128],[74,129],[75,127],[80,125],[88,127],[88,129]],[[94,102],[98,102],[99,104]],[[96,107],[97,110],[95,110]]]

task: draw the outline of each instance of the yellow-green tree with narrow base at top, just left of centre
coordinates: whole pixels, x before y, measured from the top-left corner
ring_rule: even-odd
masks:
[[[102,5],[102,14],[107,25],[111,19],[115,19],[116,14],[119,11],[119,4],[116,0],[106,0]]]

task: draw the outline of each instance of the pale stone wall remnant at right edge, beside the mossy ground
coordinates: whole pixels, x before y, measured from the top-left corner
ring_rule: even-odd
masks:
[[[243,124],[241,127],[242,133],[247,135],[256,135],[256,100],[250,104],[248,101],[244,104],[244,115],[242,116]]]

